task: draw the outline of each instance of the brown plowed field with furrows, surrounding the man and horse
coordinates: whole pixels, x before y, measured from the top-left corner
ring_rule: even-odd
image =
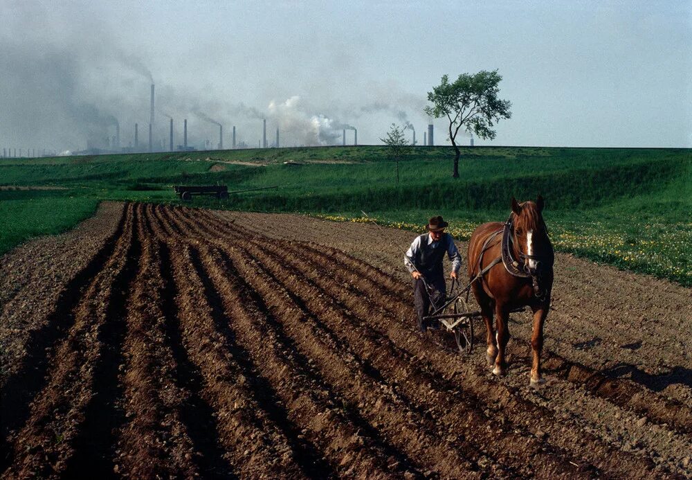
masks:
[[[109,204],[1,258],[0,472],[692,476],[689,290],[558,255],[536,390],[526,314],[503,378],[416,332],[413,236]]]

